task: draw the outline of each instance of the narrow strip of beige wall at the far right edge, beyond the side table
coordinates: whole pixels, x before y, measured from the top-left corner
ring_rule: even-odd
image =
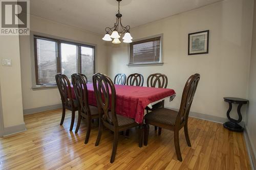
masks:
[[[254,155],[256,156],[256,3],[254,2],[253,31],[251,44],[251,62],[249,78],[249,111],[246,129],[249,134],[250,142]]]

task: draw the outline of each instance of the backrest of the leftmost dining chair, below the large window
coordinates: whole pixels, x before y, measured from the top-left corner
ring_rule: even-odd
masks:
[[[56,84],[59,89],[62,105],[74,108],[70,81],[66,75],[58,73],[55,75]]]

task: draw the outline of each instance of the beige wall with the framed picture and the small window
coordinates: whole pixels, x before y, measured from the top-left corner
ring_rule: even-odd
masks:
[[[139,72],[147,78],[162,72],[168,76],[168,88],[177,92],[165,105],[179,108],[187,78],[198,72],[201,80],[191,111],[225,118],[224,96],[247,98],[252,4],[253,0],[227,0],[133,28],[134,39],[163,33],[163,66],[127,67],[128,48],[122,43],[108,49],[108,73],[114,78],[118,72]],[[203,30],[210,30],[209,54],[188,56],[188,33]]]

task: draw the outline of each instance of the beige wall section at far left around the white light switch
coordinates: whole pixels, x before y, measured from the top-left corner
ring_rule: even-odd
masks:
[[[0,85],[4,128],[24,125],[22,85],[20,80],[19,37],[0,37]],[[2,66],[11,59],[12,66]],[[1,106],[1,104],[0,104]],[[25,130],[25,129],[23,129]]]

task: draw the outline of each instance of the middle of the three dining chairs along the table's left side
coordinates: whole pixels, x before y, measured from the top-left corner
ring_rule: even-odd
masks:
[[[82,74],[73,74],[71,76],[74,92],[76,95],[76,100],[78,101],[78,120],[75,133],[78,132],[81,118],[87,120],[87,133],[86,140],[84,143],[88,143],[90,132],[91,132],[91,122],[94,118],[99,118],[98,108],[91,106],[88,103],[88,90],[87,90],[87,78]]]

